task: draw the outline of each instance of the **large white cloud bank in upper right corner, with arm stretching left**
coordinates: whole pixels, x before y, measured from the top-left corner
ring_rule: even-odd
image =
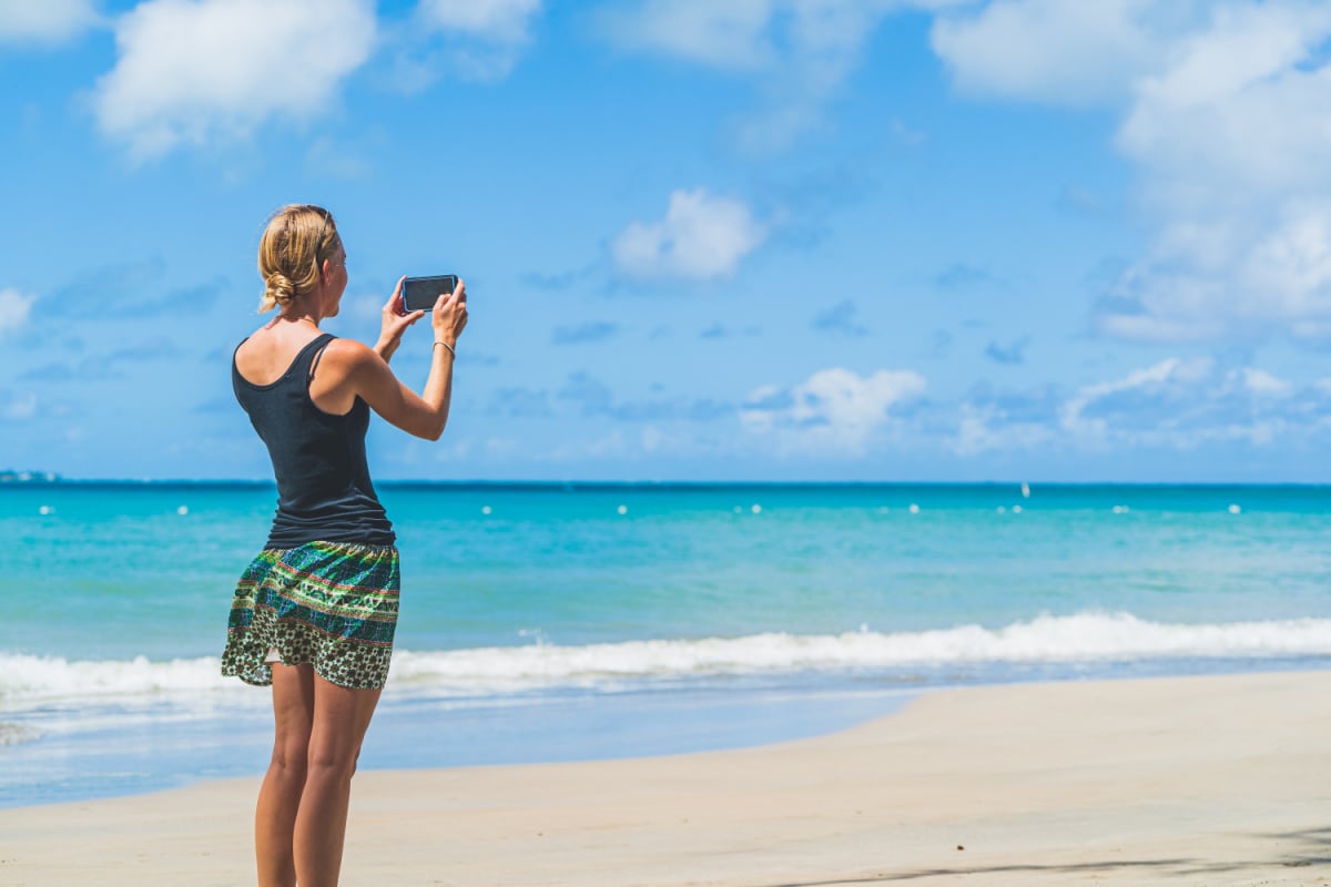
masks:
[[[997,0],[936,23],[958,89],[1121,110],[1147,250],[1093,310],[1158,342],[1331,336],[1331,7]]]

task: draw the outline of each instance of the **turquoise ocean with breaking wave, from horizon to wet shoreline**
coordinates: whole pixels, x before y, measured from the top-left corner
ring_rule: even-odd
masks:
[[[948,686],[1331,665],[1331,488],[381,484],[361,766],[813,735]],[[218,676],[270,484],[0,485],[0,806],[260,775]]]

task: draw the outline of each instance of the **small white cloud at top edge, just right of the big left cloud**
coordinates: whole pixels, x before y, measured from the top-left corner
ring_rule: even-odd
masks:
[[[540,7],[542,0],[421,0],[418,23],[454,39],[422,64],[450,66],[469,80],[506,77],[531,40],[531,21]],[[429,73],[422,76],[429,80]]]

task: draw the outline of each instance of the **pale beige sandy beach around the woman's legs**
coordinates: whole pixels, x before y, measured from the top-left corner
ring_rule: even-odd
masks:
[[[0,810],[0,884],[252,884],[257,789]],[[362,773],[342,876],[1082,883],[1331,884],[1331,672],[948,690],[757,749]]]

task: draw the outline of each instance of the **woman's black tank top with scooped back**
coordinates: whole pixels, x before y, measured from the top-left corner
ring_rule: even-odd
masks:
[[[314,541],[362,545],[395,541],[365,463],[370,404],[357,398],[351,411],[338,416],[323,412],[310,399],[318,356],[334,338],[325,332],[306,344],[272,384],[248,382],[232,355],[236,399],[268,444],[277,477],[277,516],[269,548]]]

